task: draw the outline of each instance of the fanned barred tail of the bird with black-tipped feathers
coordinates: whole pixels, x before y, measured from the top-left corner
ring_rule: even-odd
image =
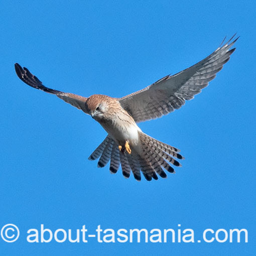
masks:
[[[120,152],[118,145],[108,135],[105,140],[90,155],[89,160],[99,158],[98,167],[104,167],[110,160],[109,170],[116,173],[121,165],[122,174],[125,178],[129,178],[131,170],[136,180],[141,180],[141,172],[146,180],[157,180],[158,175],[166,178],[167,175],[163,168],[170,173],[175,173],[173,167],[181,166],[176,159],[184,159],[180,154],[180,150],[168,144],[162,143],[142,132],[139,132],[139,139],[142,150],[137,152],[131,147],[132,153]],[[174,159],[176,158],[176,159]],[[158,175],[157,175],[158,174]]]

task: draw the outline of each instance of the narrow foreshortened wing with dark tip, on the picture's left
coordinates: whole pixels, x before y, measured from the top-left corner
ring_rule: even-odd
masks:
[[[19,78],[29,86],[48,92],[48,93],[55,94],[56,96],[63,99],[67,103],[71,104],[72,106],[75,106],[78,109],[81,109],[85,113],[87,113],[85,108],[85,101],[87,98],[73,94],[73,93],[62,92],[62,91],[45,87],[43,83],[36,76],[31,74],[27,68],[22,68],[18,63],[15,63],[15,70]]]

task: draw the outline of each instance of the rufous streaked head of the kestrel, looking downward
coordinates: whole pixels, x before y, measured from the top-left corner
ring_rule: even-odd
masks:
[[[96,121],[105,119],[109,108],[109,98],[106,95],[94,94],[86,100],[86,110]]]

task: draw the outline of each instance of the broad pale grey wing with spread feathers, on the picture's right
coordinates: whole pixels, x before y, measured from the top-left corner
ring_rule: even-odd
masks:
[[[200,93],[229,60],[235,48],[229,49],[238,39],[229,43],[234,36],[221,46],[223,40],[218,49],[192,67],[119,98],[120,104],[136,122],[155,119],[180,108],[185,100],[193,99],[195,94]]]

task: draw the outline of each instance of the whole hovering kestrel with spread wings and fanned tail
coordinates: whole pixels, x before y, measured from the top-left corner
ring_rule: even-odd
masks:
[[[234,36],[227,43],[224,43],[224,39],[219,48],[197,64],[122,98],[102,94],[93,94],[87,98],[50,89],[18,63],[15,64],[15,70],[26,84],[55,94],[101,124],[108,135],[89,156],[89,160],[99,158],[98,167],[106,166],[110,160],[111,173],[116,173],[121,165],[126,178],[130,177],[132,171],[138,181],[141,180],[141,173],[148,181],[152,178],[157,180],[158,175],[167,177],[164,170],[175,173],[172,166],[181,166],[177,159],[184,158],[177,148],[143,133],[137,123],[166,115],[200,93],[234,52],[235,48],[230,49],[238,39],[233,40]]]

